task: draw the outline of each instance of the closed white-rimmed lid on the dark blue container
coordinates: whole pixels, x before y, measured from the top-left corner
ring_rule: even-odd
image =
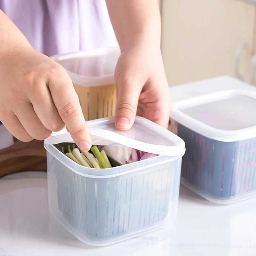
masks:
[[[220,141],[256,137],[256,92],[228,90],[176,102],[171,117]]]

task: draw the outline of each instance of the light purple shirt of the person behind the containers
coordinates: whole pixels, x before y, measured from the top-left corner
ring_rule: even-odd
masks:
[[[0,0],[0,9],[48,56],[116,46],[104,0]]]

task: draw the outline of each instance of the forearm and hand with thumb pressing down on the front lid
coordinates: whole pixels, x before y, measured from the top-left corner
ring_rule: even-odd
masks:
[[[161,55],[157,0],[106,0],[120,45],[115,79],[116,128],[130,129],[136,114],[168,127],[171,101]]]

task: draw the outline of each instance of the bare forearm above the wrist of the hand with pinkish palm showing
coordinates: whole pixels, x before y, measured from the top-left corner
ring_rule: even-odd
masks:
[[[136,44],[160,49],[161,17],[157,0],[106,0],[121,51]]]

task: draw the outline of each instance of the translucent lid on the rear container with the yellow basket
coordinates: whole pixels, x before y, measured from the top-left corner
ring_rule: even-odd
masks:
[[[69,54],[54,55],[52,60],[60,63],[74,84],[101,86],[114,84],[114,73],[120,49],[100,48]]]

